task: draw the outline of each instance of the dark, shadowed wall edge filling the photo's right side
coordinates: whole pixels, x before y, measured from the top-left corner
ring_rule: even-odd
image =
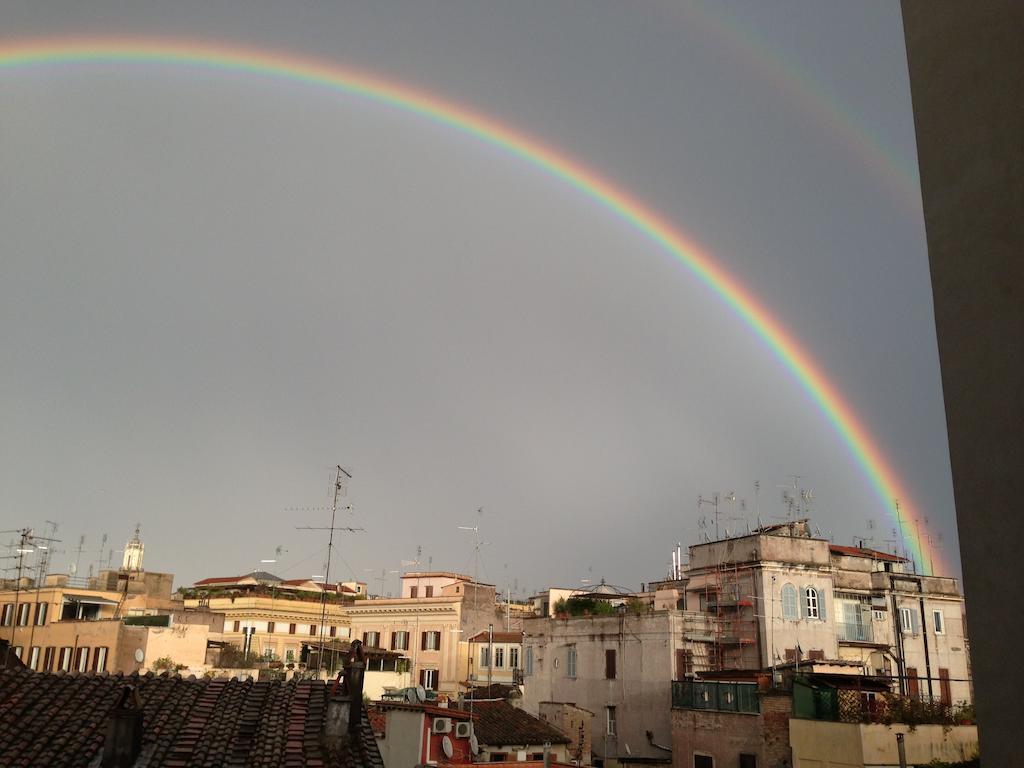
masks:
[[[928,257],[986,765],[1019,760],[1024,685],[1000,631],[1020,571],[1024,466],[1024,6],[903,0]],[[1017,345],[1019,346],[1019,345]],[[989,627],[998,628],[990,631]]]

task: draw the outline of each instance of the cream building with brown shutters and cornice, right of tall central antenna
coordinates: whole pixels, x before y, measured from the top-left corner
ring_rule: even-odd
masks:
[[[415,682],[456,697],[467,676],[464,638],[499,620],[494,586],[461,573],[413,571],[401,577],[401,595],[346,604],[351,637],[406,652]]]

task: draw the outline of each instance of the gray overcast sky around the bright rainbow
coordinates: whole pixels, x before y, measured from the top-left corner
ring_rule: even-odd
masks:
[[[324,57],[565,151],[795,333],[958,575],[896,2],[337,6],[7,0],[0,29]],[[344,524],[366,528],[342,538],[344,578],[417,546],[472,571],[457,526],[482,506],[482,579],[639,587],[695,543],[697,495],[735,490],[753,518],[758,480],[769,521],[793,474],[823,532],[889,546],[889,511],[770,350],[521,161],[357,98],[167,66],[0,71],[0,528],[58,521],[58,567],[138,521],[178,583],[278,546],[276,572],[322,573],[295,525],[327,523],[336,463]]]

